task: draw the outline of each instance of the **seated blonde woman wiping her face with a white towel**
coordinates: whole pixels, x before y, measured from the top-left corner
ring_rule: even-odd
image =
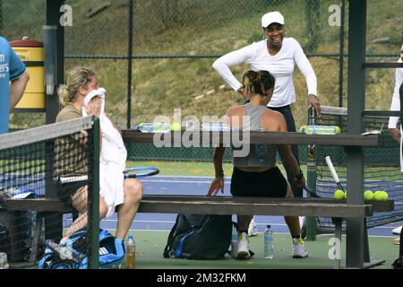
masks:
[[[120,131],[105,113],[106,90],[99,88],[96,74],[86,67],[75,67],[68,74],[67,84],[58,91],[64,106],[56,117],[56,122],[95,115],[101,127],[101,148],[99,158],[99,218],[115,212],[118,221],[116,239],[126,237],[140,206],[142,184],[138,179],[124,179],[124,164],[127,152]],[[63,177],[65,170],[57,170],[56,176]],[[86,174],[86,170],[82,170]],[[81,215],[64,234],[64,239],[87,225],[86,181],[60,184],[58,196],[66,204],[71,204]]]

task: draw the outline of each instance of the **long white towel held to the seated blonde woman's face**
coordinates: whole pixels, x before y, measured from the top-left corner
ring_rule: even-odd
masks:
[[[105,96],[106,91],[99,88],[91,91],[84,99],[84,105],[90,103],[90,99],[99,96],[103,101],[101,103],[101,114],[99,124],[102,131],[102,148],[99,157],[99,194],[104,197],[107,203],[107,217],[115,213],[115,208],[124,203],[124,174],[127,158],[126,148],[122,135],[113,126],[110,119],[105,115]],[[82,108],[82,116],[87,113]]]

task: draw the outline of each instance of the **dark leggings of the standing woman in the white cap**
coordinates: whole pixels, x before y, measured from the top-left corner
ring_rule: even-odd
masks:
[[[284,116],[284,118],[286,119],[286,123],[287,123],[287,132],[296,132],[296,122],[294,120],[293,114],[291,112],[291,107],[289,105],[284,106],[284,107],[277,107],[277,108],[270,107],[269,109],[276,110]],[[298,165],[299,165],[298,145],[292,144],[291,152],[293,152],[294,157],[296,158],[296,161],[298,162]],[[294,180],[293,180],[294,174],[287,169],[286,169],[286,171],[287,171],[287,179],[288,179],[289,184],[291,185],[291,189],[293,190],[294,196],[303,197],[303,195],[304,195],[303,188],[296,187],[296,185],[294,184]]]

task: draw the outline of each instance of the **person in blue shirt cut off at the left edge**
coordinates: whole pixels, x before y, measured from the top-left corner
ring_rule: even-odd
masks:
[[[0,134],[8,131],[9,113],[21,100],[28,81],[27,68],[10,43],[0,37]]]

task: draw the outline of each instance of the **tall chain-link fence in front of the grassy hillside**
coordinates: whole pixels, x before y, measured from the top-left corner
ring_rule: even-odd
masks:
[[[347,57],[341,56],[347,53],[347,0],[68,0],[65,4],[72,7],[72,26],[64,29],[65,70],[74,65],[96,70],[107,89],[107,111],[122,128],[159,115],[172,119],[173,110],[179,108],[182,117],[220,117],[228,107],[241,104],[242,97],[211,65],[220,55],[262,39],[261,17],[269,11],[284,15],[287,37],[297,39],[308,55],[322,104],[347,105]],[[45,0],[0,0],[0,7],[1,35],[10,40],[42,39]],[[401,3],[368,0],[367,54],[377,56],[373,61],[397,60],[402,9]],[[231,71],[240,79],[247,68],[238,65]],[[368,71],[368,109],[389,109],[393,79],[391,69]],[[296,126],[302,126],[307,121],[306,83],[299,72],[294,81],[297,100],[292,109]],[[15,128],[39,126],[44,118],[14,114],[11,123]]]

